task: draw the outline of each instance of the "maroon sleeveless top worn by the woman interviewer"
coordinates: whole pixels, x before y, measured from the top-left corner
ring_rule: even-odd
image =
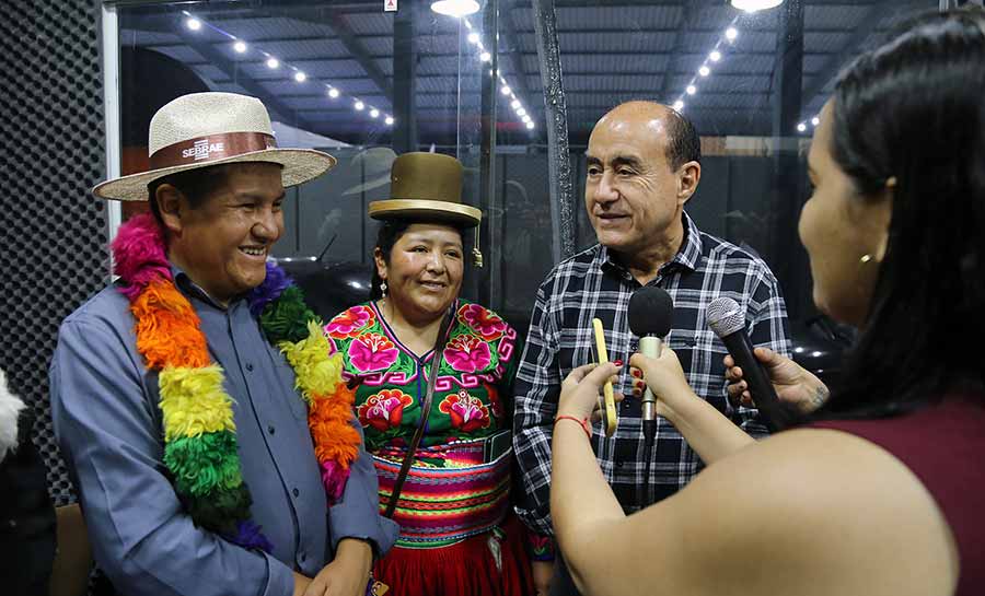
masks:
[[[955,596],[985,594],[985,396],[951,397],[896,418],[812,426],[860,436],[909,468],[937,501],[958,544]]]

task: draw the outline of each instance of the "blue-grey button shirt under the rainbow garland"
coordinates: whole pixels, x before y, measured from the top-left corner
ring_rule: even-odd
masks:
[[[291,571],[314,576],[343,538],[369,540],[376,554],[389,550],[398,528],[379,515],[370,456],[360,446],[345,494],[329,507],[293,370],[245,300],[222,307],[172,270],[225,372],[253,519],[274,552],[247,551],[199,529],[182,509],[162,461],[158,374],[137,351],[127,299],[107,288],[65,319],[49,373],[55,432],[95,559],[117,591],[290,595]]]

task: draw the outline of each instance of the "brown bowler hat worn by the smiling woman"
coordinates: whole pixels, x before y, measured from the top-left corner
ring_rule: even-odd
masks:
[[[390,171],[390,199],[369,203],[369,215],[475,227],[483,212],[462,202],[463,171],[462,162],[449,155],[404,153]]]

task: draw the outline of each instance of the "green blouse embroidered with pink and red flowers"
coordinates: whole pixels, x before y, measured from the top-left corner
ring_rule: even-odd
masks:
[[[372,302],[340,313],[325,331],[332,349],[343,353],[344,377],[358,381],[356,413],[367,448],[383,457],[398,455],[420,421],[433,350],[418,358],[401,343]],[[419,453],[421,463],[454,465],[441,455],[440,446],[509,428],[505,400],[512,399],[519,359],[519,338],[509,324],[488,308],[457,301],[419,447],[436,448]]]

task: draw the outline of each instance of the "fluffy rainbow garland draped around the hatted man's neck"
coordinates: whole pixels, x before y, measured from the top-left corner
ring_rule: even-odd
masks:
[[[151,214],[120,226],[113,256],[119,291],[137,320],[137,350],[147,367],[159,372],[164,465],[178,499],[198,526],[244,548],[270,552],[273,545],[251,521],[225,375],[209,358],[195,308],[175,288],[164,237]],[[328,355],[321,319],[276,265],[267,264],[267,277],[248,301],[268,341],[294,369],[322,482],[334,503],[345,490],[360,441],[351,424],[354,394],[341,382],[340,355]]]

